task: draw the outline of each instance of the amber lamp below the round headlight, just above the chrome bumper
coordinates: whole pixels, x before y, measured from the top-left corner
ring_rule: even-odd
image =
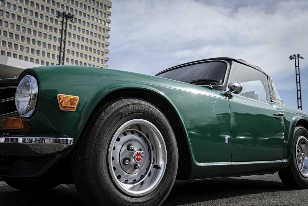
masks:
[[[21,132],[31,131],[31,128],[22,117],[6,117],[2,120],[1,129]]]

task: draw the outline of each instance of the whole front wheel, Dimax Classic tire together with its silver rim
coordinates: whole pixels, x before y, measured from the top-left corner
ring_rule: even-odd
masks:
[[[89,205],[161,205],[177,166],[171,124],[138,98],[116,99],[93,112],[72,159],[75,185]]]

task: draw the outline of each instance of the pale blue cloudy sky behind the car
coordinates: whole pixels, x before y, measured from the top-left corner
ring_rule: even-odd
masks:
[[[297,108],[300,54],[302,109],[308,111],[308,1],[111,0],[109,68],[155,75],[171,66],[234,57],[274,78]]]

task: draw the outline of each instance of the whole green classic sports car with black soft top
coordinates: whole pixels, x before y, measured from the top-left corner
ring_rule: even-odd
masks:
[[[42,66],[0,86],[0,176],[18,190],[75,184],[88,205],[161,205],[176,179],[275,172],[308,188],[308,113],[240,59],[156,76]]]

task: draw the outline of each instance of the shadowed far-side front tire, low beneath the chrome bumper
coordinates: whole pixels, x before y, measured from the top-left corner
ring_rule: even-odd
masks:
[[[43,182],[39,179],[26,179],[15,177],[2,177],[6,184],[20,191],[48,191],[54,187],[57,187],[59,183],[55,182]]]

